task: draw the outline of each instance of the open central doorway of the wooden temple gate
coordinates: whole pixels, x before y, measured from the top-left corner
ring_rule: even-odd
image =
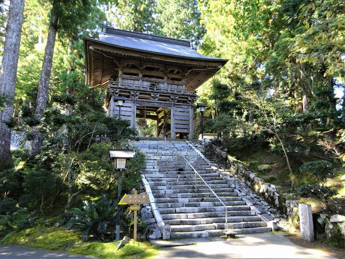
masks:
[[[171,138],[171,109],[137,106],[136,128],[142,137]]]

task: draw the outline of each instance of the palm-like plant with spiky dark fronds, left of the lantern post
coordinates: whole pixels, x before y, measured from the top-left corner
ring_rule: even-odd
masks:
[[[69,211],[73,217],[67,222],[69,229],[81,230],[81,239],[87,241],[90,234],[103,238],[107,231],[116,224],[117,204],[103,195],[97,202],[83,201],[82,209],[73,208]]]

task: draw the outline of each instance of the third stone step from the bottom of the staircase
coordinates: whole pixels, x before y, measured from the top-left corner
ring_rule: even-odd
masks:
[[[259,216],[232,216],[232,217],[228,217],[228,223],[231,223],[231,222],[259,222],[260,220],[261,220],[261,218]],[[175,220],[165,220],[164,222],[166,224],[170,224],[170,225],[224,223],[225,217],[199,218],[199,219],[175,219]]]

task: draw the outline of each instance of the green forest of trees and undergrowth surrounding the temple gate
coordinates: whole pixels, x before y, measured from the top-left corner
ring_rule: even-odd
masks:
[[[0,1],[1,56],[8,3]],[[193,39],[200,53],[229,59],[197,91],[198,102],[207,103],[205,132],[217,134],[222,148],[278,191],[300,195],[300,187],[319,186],[322,195],[344,203],[343,1],[26,0],[23,17],[14,110],[6,125],[25,132],[35,148],[7,154],[0,173],[1,202],[15,204],[20,217],[60,215],[82,199],[114,197],[107,148],[129,147],[137,133],[107,118],[106,93],[85,85],[83,37],[97,37],[104,25]],[[48,37],[54,30],[56,40]],[[51,70],[42,82],[47,48]],[[46,98],[38,98],[40,87]],[[199,118],[196,111],[196,137]],[[145,127],[150,134],[150,123]],[[125,190],[138,183],[143,163],[138,152]],[[324,175],[315,176],[320,168]],[[8,216],[2,235],[18,219]]]

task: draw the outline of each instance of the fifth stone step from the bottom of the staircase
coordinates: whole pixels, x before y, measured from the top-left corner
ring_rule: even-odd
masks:
[[[228,212],[230,211],[250,211],[250,206],[239,205],[239,206],[227,206]],[[173,214],[173,213],[198,213],[198,212],[221,212],[225,211],[225,207],[177,207],[177,208],[159,208],[162,214]]]

